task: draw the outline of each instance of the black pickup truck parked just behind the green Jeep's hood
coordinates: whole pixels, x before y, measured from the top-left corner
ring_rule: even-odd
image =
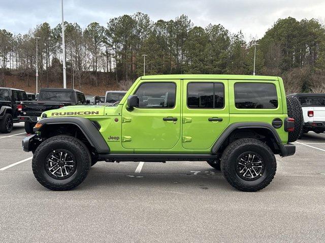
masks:
[[[42,88],[37,101],[21,102],[20,121],[25,122],[25,131],[33,133],[33,127],[42,112],[68,105],[85,104],[85,95],[79,90],[61,88]]]

